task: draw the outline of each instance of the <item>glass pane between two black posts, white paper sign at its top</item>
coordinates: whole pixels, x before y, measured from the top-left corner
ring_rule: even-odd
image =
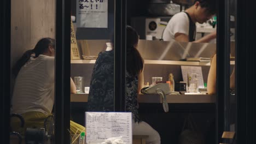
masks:
[[[114,111],[114,2],[71,1],[72,141],[85,130],[86,111]]]

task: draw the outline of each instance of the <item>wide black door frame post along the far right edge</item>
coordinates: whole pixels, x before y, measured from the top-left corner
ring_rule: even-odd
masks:
[[[254,1],[237,0],[237,143],[256,143],[256,15]]]

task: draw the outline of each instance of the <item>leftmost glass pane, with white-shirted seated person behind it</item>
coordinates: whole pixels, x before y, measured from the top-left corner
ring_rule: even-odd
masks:
[[[11,1],[10,127],[22,141],[53,143],[54,56],[55,1]]]

